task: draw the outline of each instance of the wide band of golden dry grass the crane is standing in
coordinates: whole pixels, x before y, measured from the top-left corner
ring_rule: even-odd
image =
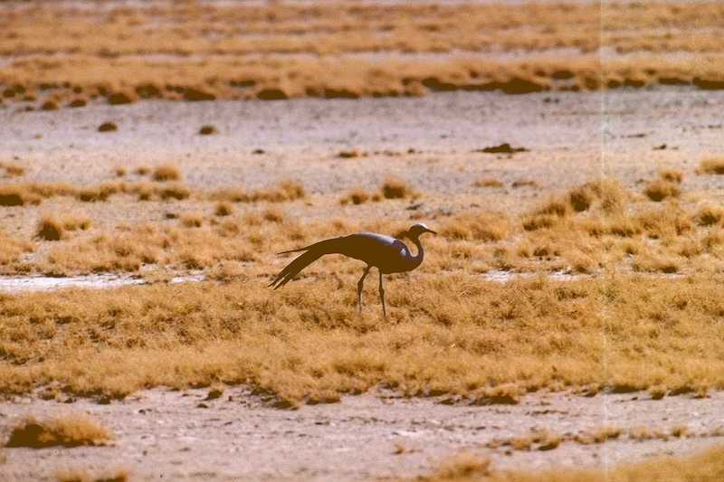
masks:
[[[470,403],[544,387],[724,387],[720,276],[500,285],[420,271],[414,285],[388,280],[384,322],[356,314],[358,263],[319,269],[335,262],[349,289],[325,274],[274,292],[247,271],[223,285],[5,296],[0,390],[247,383],[295,404],[376,385]]]

